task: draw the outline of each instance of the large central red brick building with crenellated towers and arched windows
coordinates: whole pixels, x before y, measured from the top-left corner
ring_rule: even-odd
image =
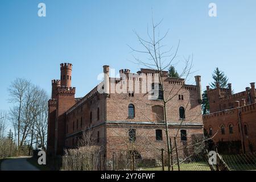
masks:
[[[127,150],[124,143],[129,142],[130,135],[137,142],[135,149],[141,158],[156,158],[153,149],[166,147],[161,94],[152,97],[157,86],[154,81],[148,81],[152,81],[156,71],[141,69],[130,73],[129,69],[121,69],[119,78],[110,78],[109,66],[103,68],[104,82],[84,97],[76,98],[76,88],[71,86],[72,64],[60,65],[60,80],[52,80],[52,98],[48,102],[47,155],[62,155],[64,148],[76,147],[82,131],[92,129],[92,140],[104,147],[106,159],[112,158],[112,152]],[[167,71],[162,78],[172,98],[167,110],[170,139],[177,134],[177,144],[184,146],[193,137],[203,135],[201,78],[195,77],[196,85],[187,85],[182,78],[168,77]],[[135,82],[139,93],[134,89]],[[148,84],[150,89],[142,92],[143,85]],[[127,92],[112,92],[118,86]]]

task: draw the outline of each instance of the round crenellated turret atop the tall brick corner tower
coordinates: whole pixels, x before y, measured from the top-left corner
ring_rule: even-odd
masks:
[[[60,85],[65,87],[71,87],[72,79],[72,64],[61,63],[60,64]]]

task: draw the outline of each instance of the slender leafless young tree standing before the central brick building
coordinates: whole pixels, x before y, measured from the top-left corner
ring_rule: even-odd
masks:
[[[182,86],[180,86],[179,89],[175,89],[177,86],[179,87],[179,85],[174,85],[171,90],[167,90],[164,86],[163,71],[174,64],[180,42],[177,44],[175,50],[172,50],[173,47],[166,48],[166,45],[163,44],[163,40],[166,38],[168,31],[163,36],[160,36],[159,25],[161,22],[162,20],[159,23],[155,23],[154,19],[152,18],[152,31],[150,32],[147,28],[147,39],[142,38],[142,36],[134,31],[139,44],[142,46],[142,49],[137,49],[130,46],[129,47],[133,52],[142,53],[147,56],[145,60],[133,56],[135,60],[133,63],[143,65],[144,67],[154,69],[158,72],[159,90],[161,90],[163,93],[162,106],[164,108],[164,126],[167,139],[168,170],[170,170],[172,149],[170,146],[170,134],[168,131],[167,103],[177,96]],[[192,61],[193,56],[184,58],[184,68],[180,73],[180,77],[184,77],[185,80],[187,80],[189,75],[191,75]],[[180,125],[182,123],[183,120],[180,122]]]

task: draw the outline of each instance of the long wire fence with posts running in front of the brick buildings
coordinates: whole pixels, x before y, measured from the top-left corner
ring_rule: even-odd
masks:
[[[163,154],[163,153],[162,153]],[[220,155],[217,164],[209,163],[207,154],[176,157],[172,154],[170,171],[256,171],[256,152],[250,154]],[[113,152],[112,159],[106,160],[104,155],[89,158],[62,158],[64,170],[112,170],[112,171],[168,171],[166,156],[155,159],[142,159],[140,156],[127,155],[124,152]],[[177,160],[179,159],[179,161]]]

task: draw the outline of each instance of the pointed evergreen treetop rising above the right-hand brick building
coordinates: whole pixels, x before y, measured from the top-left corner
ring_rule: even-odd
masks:
[[[218,67],[214,70],[212,74],[213,81],[210,83],[210,87],[212,89],[216,88],[216,83],[220,83],[220,88],[227,88],[228,87],[228,77],[226,77],[225,73],[220,71]]]

